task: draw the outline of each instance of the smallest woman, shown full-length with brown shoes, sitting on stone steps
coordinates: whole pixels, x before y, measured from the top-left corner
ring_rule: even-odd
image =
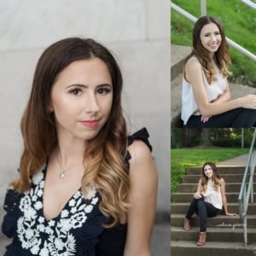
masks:
[[[236,216],[230,213],[227,207],[225,195],[225,182],[218,176],[215,164],[208,162],[202,167],[202,176],[199,180],[197,190],[190,203],[184,220],[184,230],[190,230],[190,219],[193,214],[199,216],[200,234],[197,246],[203,246],[207,237],[207,217],[215,217],[219,210],[224,208],[225,215]]]

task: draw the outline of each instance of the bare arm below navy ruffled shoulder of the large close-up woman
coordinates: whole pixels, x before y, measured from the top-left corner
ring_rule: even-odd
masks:
[[[125,256],[150,256],[154,224],[157,172],[148,146],[135,141],[128,147],[130,160],[130,202]]]

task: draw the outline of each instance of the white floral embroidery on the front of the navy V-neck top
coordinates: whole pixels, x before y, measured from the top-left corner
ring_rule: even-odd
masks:
[[[17,222],[17,235],[21,242],[21,247],[29,249],[32,255],[39,256],[72,256],[76,252],[76,241],[71,230],[82,227],[87,219],[87,214],[92,212],[93,207],[99,200],[96,189],[87,191],[85,202],[79,189],[73,198],[68,201],[70,211],[63,209],[59,218],[47,221],[44,216],[39,216],[43,208],[41,198],[44,190],[44,167],[32,177],[32,186],[25,196],[20,199],[20,211],[24,217],[20,217]],[[42,241],[40,234],[48,235]]]

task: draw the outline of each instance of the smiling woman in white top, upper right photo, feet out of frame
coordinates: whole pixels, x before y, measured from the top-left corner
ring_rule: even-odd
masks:
[[[256,95],[230,101],[227,81],[230,67],[224,28],[217,19],[196,21],[193,49],[183,76],[183,124],[191,127],[253,127]]]

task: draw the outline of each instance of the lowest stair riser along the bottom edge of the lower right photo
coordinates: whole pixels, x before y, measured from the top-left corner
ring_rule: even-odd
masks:
[[[171,244],[172,245],[172,244]],[[234,248],[234,249],[224,249],[224,248],[208,248],[208,247],[172,247],[171,246],[171,255],[172,256],[255,256],[253,251],[247,249]]]

